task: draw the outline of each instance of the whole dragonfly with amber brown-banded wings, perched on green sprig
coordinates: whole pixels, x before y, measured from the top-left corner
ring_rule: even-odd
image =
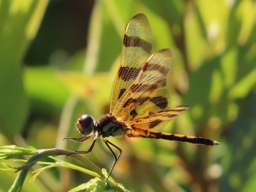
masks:
[[[220,144],[202,137],[160,132],[169,121],[188,110],[189,106],[170,107],[166,78],[171,69],[172,51],[163,49],[152,54],[152,46],[153,39],[146,15],[135,15],[124,31],[121,62],[111,91],[110,113],[98,122],[90,115],[83,115],[76,122],[76,128],[83,137],[64,138],[82,142],[94,136],[87,151],[73,152],[87,154],[100,137],[115,158],[109,175],[122,154],[121,148],[106,139],[110,136],[165,139],[206,146]],[[119,154],[116,155],[110,146],[116,148]]]

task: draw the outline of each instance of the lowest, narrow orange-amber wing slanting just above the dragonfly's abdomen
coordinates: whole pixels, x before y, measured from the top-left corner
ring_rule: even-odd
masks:
[[[173,118],[183,114],[185,110],[188,110],[189,106],[175,106],[169,107],[164,110],[158,111],[152,115],[133,119],[132,121],[126,122],[131,128],[138,129],[149,129],[154,131],[161,131],[163,127],[171,121]]]

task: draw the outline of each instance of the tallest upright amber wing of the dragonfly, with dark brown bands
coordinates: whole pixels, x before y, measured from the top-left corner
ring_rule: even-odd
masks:
[[[124,32],[121,63],[111,91],[110,113],[119,105],[119,99],[137,78],[143,62],[152,52],[152,35],[145,14],[135,15],[128,23]]]

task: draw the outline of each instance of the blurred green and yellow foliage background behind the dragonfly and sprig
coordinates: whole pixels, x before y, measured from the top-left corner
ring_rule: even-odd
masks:
[[[0,146],[86,150],[91,140],[81,144],[62,138],[81,137],[74,125],[77,117],[90,114],[99,119],[108,113],[123,31],[133,15],[145,13],[154,52],[173,51],[167,79],[171,106],[190,105],[163,131],[206,137],[221,145],[109,138],[123,149],[111,176],[130,191],[253,191],[256,3],[92,3],[0,2]],[[86,158],[108,170],[114,161],[100,141]],[[7,191],[14,178],[0,171],[5,181],[0,190]],[[45,171],[34,182],[25,180],[23,190],[68,191],[90,179],[61,168]]]

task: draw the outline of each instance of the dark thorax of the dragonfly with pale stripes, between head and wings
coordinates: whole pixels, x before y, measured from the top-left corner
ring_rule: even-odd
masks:
[[[121,136],[124,135],[127,126],[123,121],[119,121],[112,114],[103,116],[97,124],[98,136],[106,138],[109,136]]]

